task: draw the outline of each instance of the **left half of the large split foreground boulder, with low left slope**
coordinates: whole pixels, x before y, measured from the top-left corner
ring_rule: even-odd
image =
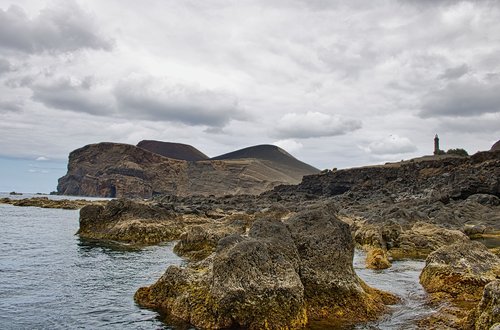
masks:
[[[135,299],[201,328],[283,329],[307,323],[298,252],[279,220],[257,221],[248,237],[221,239],[215,254],[200,263],[170,266]]]

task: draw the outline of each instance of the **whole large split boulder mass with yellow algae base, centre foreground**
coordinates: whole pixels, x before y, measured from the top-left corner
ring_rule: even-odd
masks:
[[[206,259],[169,267],[135,299],[210,329],[295,329],[311,318],[374,319],[395,297],[356,276],[353,253],[349,227],[325,207],[285,222],[261,218],[248,236],[220,239]]]

